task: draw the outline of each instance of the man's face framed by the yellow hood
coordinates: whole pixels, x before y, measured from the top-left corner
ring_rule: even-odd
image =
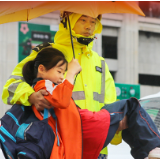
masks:
[[[93,34],[96,25],[96,18],[82,15],[76,22],[73,30],[76,34],[89,37]]]

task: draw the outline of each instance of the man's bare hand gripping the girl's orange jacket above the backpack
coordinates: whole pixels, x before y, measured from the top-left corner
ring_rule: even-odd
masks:
[[[38,111],[43,111],[44,108],[50,109],[52,105],[44,98],[47,95],[48,92],[46,90],[39,90],[29,96],[29,102],[34,104]]]

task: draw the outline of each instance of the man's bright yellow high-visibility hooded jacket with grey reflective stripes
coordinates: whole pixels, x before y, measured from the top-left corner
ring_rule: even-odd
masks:
[[[80,14],[75,13],[70,15],[71,29],[73,29],[80,17]],[[101,33],[101,31],[102,25],[99,20],[97,20],[95,31],[90,38],[93,38],[97,33]],[[73,30],[72,35],[73,37],[83,37],[75,34]],[[90,111],[99,111],[105,104],[116,101],[114,80],[104,58],[100,57],[92,50],[93,42],[87,46],[80,44],[77,42],[76,38],[73,38],[73,43],[75,58],[79,60],[82,67],[82,71],[76,78],[72,95],[73,99],[82,109],[86,108]],[[62,23],[60,23],[59,31],[56,33],[54,43],[51,43],[51,45],[62,51],[68,62],[72,60],[73,51],[69,30],[64,28]],[[21,103],[26,106],[31,105],[28,102],[28,97],[34,90],[24,81],[22,77],[22,67],[29,60],[33,60],[37,54],[37,51],[33,51],[15,67],[12,75],[3,88],[2,100],[4,103]]]

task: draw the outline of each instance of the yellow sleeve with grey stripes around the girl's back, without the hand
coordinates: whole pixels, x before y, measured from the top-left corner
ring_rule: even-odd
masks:
[[[37,52],[33,51],[31,55],[22,60],[13,70],[11,76],[3,87],[2,100],[5,104],[23,104],[31,105],[28,97],[34,93],[33,88],[25,82],[22,76],[22,68],[24,64],[33,60]]]

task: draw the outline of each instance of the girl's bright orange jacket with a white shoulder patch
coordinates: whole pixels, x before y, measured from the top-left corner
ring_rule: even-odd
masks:
[[[55,136],[51,159],[82,158],[82,125],[79,111],[71,98],[73,87],[68,80],[64,80],[59,85],[54,85],[49,80],[40,80],[34,86],[36,92],[41,89],[48,91],[49,95],[45,98],[52,104],[57,116],[60,146],[57,146],[57,136]],[[37,118],[42,120],[43,117],[35,106],[32,108]],[[55,120],[51,116],[48,119],[48,124],[56,133]]]

